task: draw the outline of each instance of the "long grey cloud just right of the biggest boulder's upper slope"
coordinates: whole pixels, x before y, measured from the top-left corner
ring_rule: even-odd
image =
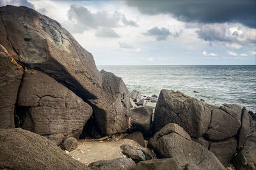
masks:
[[[68,19],[75,24],[74,27],[79,27],[79,29],[82,30],[97,29],[98,27],[113,28],[127,25],[134,27],[138,26],[136,22],[127,20],[125,15],[118,11],[114,11],[113,13],[108,13],[107,11],[97,11],[96,13],[92,13],[88,8],[76,4],[70,5]]]

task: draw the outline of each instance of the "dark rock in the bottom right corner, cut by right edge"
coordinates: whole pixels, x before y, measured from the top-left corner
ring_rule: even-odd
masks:
[[[234,159],[237,170],[256,169],[256,128],[247,136],[243,148]]]

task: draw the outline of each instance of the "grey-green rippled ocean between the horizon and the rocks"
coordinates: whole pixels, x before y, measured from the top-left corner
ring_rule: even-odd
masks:
[[[159,96],[161,89],[206,103],[246,106],[256,111],[256,66],[97,66],[122,77],[129,92]],[[198,92],[195,93],[194,91]]]

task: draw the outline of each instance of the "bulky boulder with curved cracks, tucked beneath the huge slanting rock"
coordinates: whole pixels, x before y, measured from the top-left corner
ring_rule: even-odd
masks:
[[[33,74],[31,74],[33,73]],[[40,71],[24,73],[17,100],[20,125],[45,137],[78,138],[92,108],[74,92]]]

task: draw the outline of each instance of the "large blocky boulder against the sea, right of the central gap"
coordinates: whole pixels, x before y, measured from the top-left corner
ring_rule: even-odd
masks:
[[[207,105],[193,97],[173,90],[161,90],[154,115],[152,132],[160,131],[169,123],[179,124],[190,136],[199,138],[211,121]]]

